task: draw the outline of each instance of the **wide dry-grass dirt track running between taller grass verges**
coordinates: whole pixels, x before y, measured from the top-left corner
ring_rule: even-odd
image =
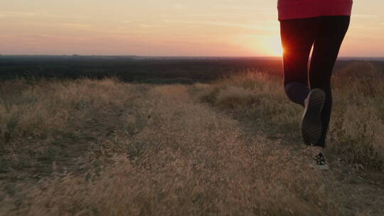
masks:
[[[193,86],[137,85],[131,93],[48,140],[36,166],[1,173],[2,188],[24,184],[6,191],[11,212],[384,214],[383,173],[332,153],[331,170],[315,171],[309,151],[290,134],[201,102]],[[95,171],[92,181],[88,171]]]

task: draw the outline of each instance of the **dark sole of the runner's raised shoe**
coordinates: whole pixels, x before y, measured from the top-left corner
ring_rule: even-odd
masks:
[[[314,146],[323,132],[321,110],[324,107],[325,97],[324,91],[320,89],[309,92],[309,101],[302,117],[302,137],[307,146]]]

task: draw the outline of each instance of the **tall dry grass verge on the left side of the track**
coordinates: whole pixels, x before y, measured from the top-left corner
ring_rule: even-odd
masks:
[[[82,121],[91,112],[103,112],[122,102],[127,88],[115,80],[40,80],[33,85],[24,79],[1,83],[1,138],[9,143],[28,137],[46,137]],[[106,106],[108,105],[108,106]]]

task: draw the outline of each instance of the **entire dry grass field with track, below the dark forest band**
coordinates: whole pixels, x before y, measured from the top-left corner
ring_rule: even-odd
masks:
[[[370,63],[335,75],[330,171],[267,72],[2,81],[0,215],[384,215],[383,81]]]

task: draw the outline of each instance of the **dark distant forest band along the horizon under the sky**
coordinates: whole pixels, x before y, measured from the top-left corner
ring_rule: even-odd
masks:
[[[335,70],[356,61],[338,60]],[[383,71],[384,61],[369,60]],[[142,58],[137,56],[0,56],[0,80],[18,77],[76,79],[118,77],[125,82],[211,82],[246,71],[282,75],[281,58]]]

